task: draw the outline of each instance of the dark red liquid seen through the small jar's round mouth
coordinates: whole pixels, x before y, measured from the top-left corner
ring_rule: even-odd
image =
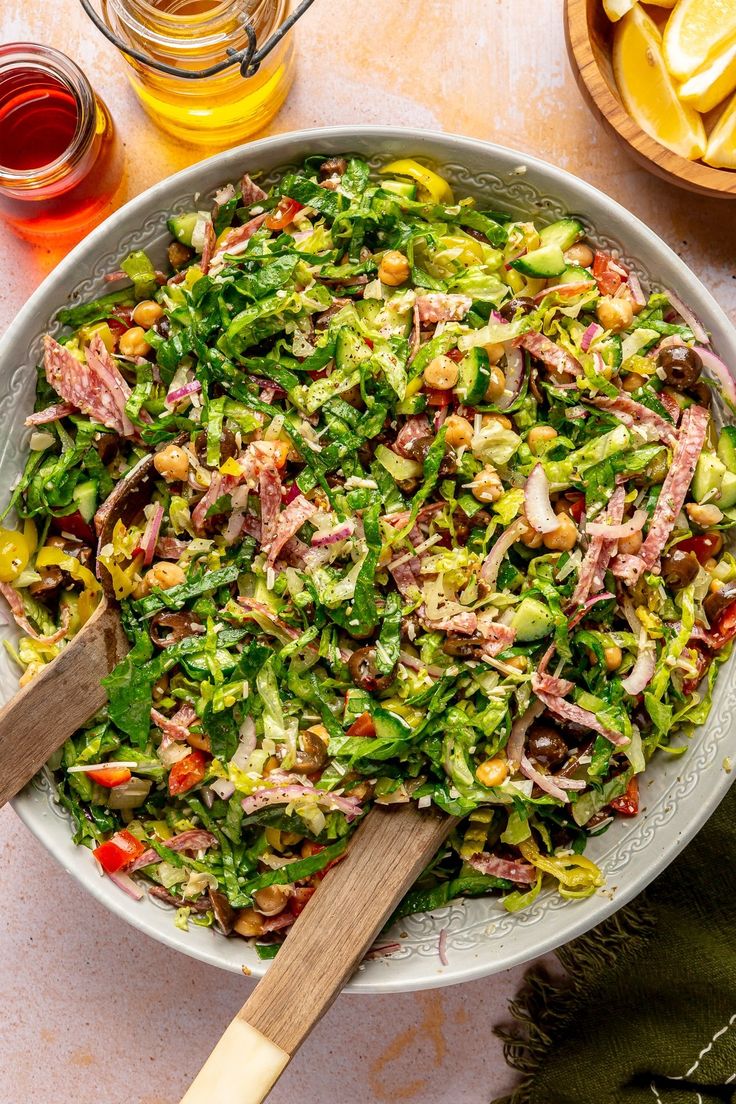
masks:
[[[49,73],[19,68],[0,79],[0,164],[41,169],[71,146],[78,123],[76,99]]]

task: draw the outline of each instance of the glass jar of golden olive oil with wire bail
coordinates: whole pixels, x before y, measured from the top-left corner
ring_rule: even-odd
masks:
[[[186,72],[246,50],[249,24],[259,42],[286,19],[289,0],[103,0],[102,12],[122,43]],[[130,83],[151,118],[198,146],[233,146],[263,129],[294,79],[294,41],[285,35],[248,77],[233,65],[212,76],[162,73],[126,55]]]

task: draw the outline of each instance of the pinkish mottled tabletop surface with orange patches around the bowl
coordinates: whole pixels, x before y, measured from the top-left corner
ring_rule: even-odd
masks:
[[[450,130],[529,150],[649,222],[736,315],[736,220],[637,169],[594,123],[565,55],[562,0],[318,0],[274,131],[345,123]],[[65,50],[127,149],[124,198],[207,152],[157,131],[75,0],[0,0],[0,41]],[[0,329],[53,266],[0,225]],[[89,900],[0,814],[0,1104],[177,1104],[252,983],[159,946]],[[513,1076],[492,1026],[522,972],[436,992],[341,997],[274,1104],[487,1104]],[[214,1104],[214,1102],[213,1102]]]

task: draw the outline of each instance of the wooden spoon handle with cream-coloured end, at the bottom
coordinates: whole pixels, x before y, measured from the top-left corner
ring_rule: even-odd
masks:
[[[182,1104],[265,1100],[455,824],[414,804],[373,808]]]

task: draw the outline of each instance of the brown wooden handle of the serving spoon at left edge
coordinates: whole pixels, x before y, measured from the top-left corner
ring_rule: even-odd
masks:
[[[100,679],[129,647],[118,614],[103,599],[56,659],[0,711],[0,807],[105,704]]]

